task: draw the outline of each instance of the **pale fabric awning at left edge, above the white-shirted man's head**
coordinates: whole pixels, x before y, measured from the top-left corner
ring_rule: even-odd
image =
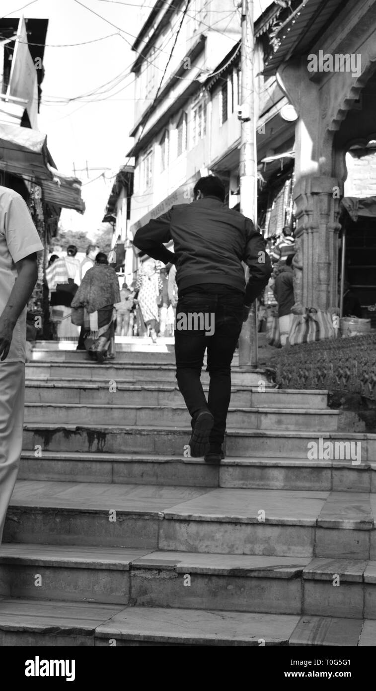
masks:
[[[0,170],[26,178],[52,178],[46,139],[28,127],[0,123]]]

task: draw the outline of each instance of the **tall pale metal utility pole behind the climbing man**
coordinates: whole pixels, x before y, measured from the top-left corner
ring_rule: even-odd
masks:
[[[241,0],[241,120],[240,211],[257,222],[257,171],[255,124],[255,39],[253,0]],[[248,269],[246,270],[246,277]],[[257,305],[254,303],[239,337],[239,366],[257,366]]]

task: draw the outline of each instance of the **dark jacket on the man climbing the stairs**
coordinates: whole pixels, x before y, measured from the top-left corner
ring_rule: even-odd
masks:
[[[170,240],[175,254],[164,247]],[[221,283],[246,292],[246,305],[259,296],[272,272],[264,238],[250,218],[217,197],[172,207],[140,228],[133,244],[154,259],[176,264],[179,290]],[[247,285],[242,261],[250,269]]]

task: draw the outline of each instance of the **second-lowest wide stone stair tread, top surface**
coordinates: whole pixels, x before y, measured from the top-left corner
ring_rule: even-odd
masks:
[[[126,547],[23,545],[18,542],[5,542],[0,546],[0,567],[3,564],[87,567],[118,571],[161,569],[176,571],[178,574],[329,581],[333,580],[333,574],[337,574],[342,582],[376,585],[376,561],[357,559],[292,558],[255,554],[154,551]]]

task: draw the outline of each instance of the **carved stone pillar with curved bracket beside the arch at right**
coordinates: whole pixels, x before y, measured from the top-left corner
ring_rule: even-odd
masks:
[[[299,113],[295,129],[295,302],[328,310],[337,306],[338,230],[333,169],[333,133],[324,125],[327,104],[309,78],[306,59],[279,69],[278,80]],[[342,184],[342,183],[341,183]]]

